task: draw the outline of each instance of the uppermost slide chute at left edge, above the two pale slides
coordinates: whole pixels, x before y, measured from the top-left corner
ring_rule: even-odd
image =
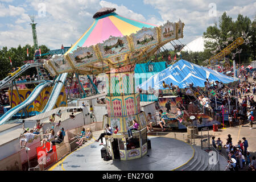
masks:
[[[0,81],[0,89],[6,88],[6,84],[13,81],[16,77],[18,77],[21,73],[26,71],[28,68],[32,67],[38,67],[39,65],[42,65],[43,63],[27,63],[24,64],[22,67],[17,69],[15,72],[10,73],[9,76],[5,77],[2,81]]]

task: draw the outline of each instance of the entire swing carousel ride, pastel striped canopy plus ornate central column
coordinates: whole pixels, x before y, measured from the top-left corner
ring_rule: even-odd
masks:
[[[44,61],[52,76],[60,73],[96,75],[106,73],[106,123],[118,127],[119,158],[130,160],[147,153],[146,115],[140,109],[139,93],[135,92],[135,64],[148,59],[164,44],[183,38],[184,23],[168,22],[162,26],[125,18],[103,8],[94,14],[94,22],[79,40],[65,53]],[[135,119],[139,129],[133,134],[137,148],[127,148],[127,130]],[[122,143],[123,142],[123,143]],[[122,144],[121,144],[122,143]],[[107,143],[113,152],[112,143]]]

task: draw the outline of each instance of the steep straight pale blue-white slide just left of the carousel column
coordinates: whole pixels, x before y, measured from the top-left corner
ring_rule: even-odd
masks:
[[[68,73],[62,73],[57,77],[56,83],[52,89],[51,96],[49,97],[48,102],[41,113],[52,110],[52,108],[55,106],[60,94],[60,90],[63,87],[63,84],[67,76],[68,76]]]

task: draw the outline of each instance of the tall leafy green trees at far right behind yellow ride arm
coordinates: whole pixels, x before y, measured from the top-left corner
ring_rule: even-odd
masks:
[[[253,34],[255,34],[255,28],[253,28],[253,23],[251,23],[250,18],[241,14],[238,14],[237,20],[233,21],[232,18],[226,15],[226,12],[224,12],[219,19],[218,26],[217,23],[214,24],[214,26],[209,26],[207,31],[204,32],[204,38],[209,38],[205,41],[205,49],[207,51],[214,51],[217,49],[217,46],[220,46],[220,49],[217,50],[217,52],[212,53],[211,56],[214,56],[220,52],[220,50],[224,49],[230,43],[232,43],[233,40],[241,37],[242,32],[247,34],[250,43],[247,45],[242,44],[240,47],[238,47],[238,49],[242,49],[242,52],[240,53],[240,60],[241,63],[249,62],[250,60],[255,59],[255,39],[253,42]],[[231,37],[233,37],[233,39]],[[236,49],[233,50],[233,53],[235,52]],[[232,56],[230,55],[230,58],[231,57]],[[238,63],[238,54],[236,54],[235,60]]]

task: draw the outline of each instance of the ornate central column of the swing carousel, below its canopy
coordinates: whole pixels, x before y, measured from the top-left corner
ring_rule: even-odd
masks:
[[[109,123],[113,130],[118,127],[118,133],[106,139],[112,159],[130,160],[147,153],[147,121],[140,108],[140,94],[135,92],[134,68],[132,64],[106,73],[108,114],[104,115],[104,124]],[[127,139],[134,119],[139,129],[133,132],[133,138]]]

